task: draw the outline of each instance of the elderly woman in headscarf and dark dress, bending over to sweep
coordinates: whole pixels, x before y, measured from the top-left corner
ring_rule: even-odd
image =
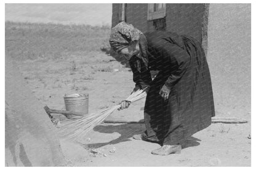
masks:
[[[111,30],[110,45],[129,61],[135,90],[146,88],[146,130],[134,139],[161,145],[151,153],[180,153],[192,134],[214,117],[212,83],[206,56],[193,37],[165,31],[142,33],[122,21]],[[151,70],[159,71],[151,79]],[[121,109],[129,107],[123,101]]]

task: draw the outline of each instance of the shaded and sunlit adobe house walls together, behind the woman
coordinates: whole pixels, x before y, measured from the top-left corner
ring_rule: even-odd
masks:
[[[209,9],[209,10],[208,10]],[[148,4],[127,4],[127,22],[153,31]],[[250,4],[167,4],[166,29],[202,43],[212,77],[217,112],[250,112]],[[113,25],[119,4],[113,4]]]

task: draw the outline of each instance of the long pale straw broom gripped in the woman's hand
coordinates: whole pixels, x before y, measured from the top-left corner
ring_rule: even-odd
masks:
[[[145,98],[145,89],[134,91],[125,101],[136,102]],[[76,116],[69,120],[64,120],[58,125],[60,136],[75,141],[79,137],[84,136],[95,126],[102,123],[106,117],[119,109],[121,104],[110,107],[108,109],[97,112],[96,114],[88,114],[84,116]]]

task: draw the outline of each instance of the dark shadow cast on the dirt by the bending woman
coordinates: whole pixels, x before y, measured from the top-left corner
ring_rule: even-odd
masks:
[[[102,142],[102,143],[95,143],[95,144],[87,144],[86,147],[88,148],[100,148],[105,145],[113,145],[118,144],[120,142],[127,142],[132,141],[135,139],[130,139],[135,134],[142,134],[143,131],[145,131],[145,125],[143,123],[126,123],[121,125],[98,125],[95,126],[94,131],[97,131],[99,133],[119,133],[121,136],[119,136],[117,139],[114,139],[110,142]],[[200,139],[197,139],[196,137],[188,137],[186,139],[186,142],[182,144],[182,149],[185,149],[186,147],[194,147],[200,145],[198,141],[201,141]]]

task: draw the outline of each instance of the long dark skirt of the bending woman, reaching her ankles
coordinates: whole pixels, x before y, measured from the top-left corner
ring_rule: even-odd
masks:
[[[164,145],[182,144],[187,137],[207,128],[215,116],[209,67],[201,45],[183,37],[190,65],[171,88],[168,101],[159,95],[170,70],[159,71],[146,96],[144,136]],[[171,68],[171,67],[170,67]]]

